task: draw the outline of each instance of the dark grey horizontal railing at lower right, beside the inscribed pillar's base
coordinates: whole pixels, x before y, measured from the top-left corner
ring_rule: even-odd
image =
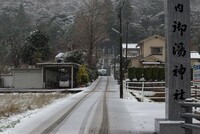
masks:
[[[181,127],[185,129],[185,134],[192,134],[194,129],[200,130],[200,124],[193,123],[193,119],[200,120],[200,114],[192,112],[193,108],[200,107],[200,102],[180,102],[184,112],[180,116],[185,119],[185,123]]]

